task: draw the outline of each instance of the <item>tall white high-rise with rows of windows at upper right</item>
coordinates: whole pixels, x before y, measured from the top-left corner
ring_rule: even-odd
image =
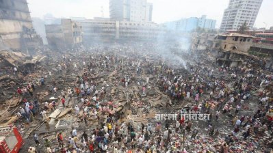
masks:
[[[224,10],[220,32],[236,31],[244,22],[252,28],[263,0],[230,0]]]

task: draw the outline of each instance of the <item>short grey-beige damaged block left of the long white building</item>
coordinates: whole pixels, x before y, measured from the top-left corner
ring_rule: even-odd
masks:
[[[71,19],[62,19],[61,25],[45,25],[47,41],[53,49],[77,49],[81,47],[82,26]]]

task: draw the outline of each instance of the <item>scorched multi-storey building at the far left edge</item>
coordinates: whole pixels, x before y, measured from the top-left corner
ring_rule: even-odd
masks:
[[[0,39],[4,46],[25,53],[42,44],[31,23],[26,0],[0,0]]]

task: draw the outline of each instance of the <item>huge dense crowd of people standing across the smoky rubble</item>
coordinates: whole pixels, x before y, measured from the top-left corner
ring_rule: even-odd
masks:
[[[170,53],[182,56],[187,61],[185,67],[181,61],[174,60],[177,58],[162,57],[157,48],[157,44],[116,44],[66,53],[59,57],[55,71],[29,78],[27,85],[17,88],[18,96],[23,98],[23,105],[17,111],[20,120],[31,124],[38,117],[48,122],[49,114],[55,109],[72,107],[72,114],[86,128],[73,127],[70,133],[60,130],[53,140],[39,140],[39,135],[34,134],[36,147],[31,144],[28,152],[227,153],[243,150],[238,146],[242,142],[247,143],[244,146],[250,152],[272,148],[272,72],[206,65],[200,61],[205,63],[207,59],[196,60],[189,53]],[[120,76],[109,81],[113,71]],[[77,75],[69,85],[60,86],[55,76],[65,73]],[[107,79],[101,80],[105,75]],[[129,94],[133,86],[139,87],[138,94]],[[145,100],[152,97],[148,91],[158,89],[168,100],[164,107],[155,109],[156,113],[174,113],[178,117],[133,122],[128,111],[114,111],[120,104],[114,102],[116,95],[110,92],[112,87],[125,90],[127,107],[124,109],[128,110],[133,109],[133,103],[149,105]],[[38,89],[58,98],[41,102],[36,95]],[[77,103],[66,105],[67,98],[76,98]],[[181,111],[209,114],[209,120],[186,120]],[[94,121],[98,124],[94,125]],[[267,147],[249,147],[254,139],[264,135],[270,138],[259,145]]]

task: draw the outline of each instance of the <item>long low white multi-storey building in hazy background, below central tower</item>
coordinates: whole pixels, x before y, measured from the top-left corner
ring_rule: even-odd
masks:
[[[109,40],[155,40],[164,33],[156,23],[107,20],[77,20],[83,27],[83,43],[105,42]]]

